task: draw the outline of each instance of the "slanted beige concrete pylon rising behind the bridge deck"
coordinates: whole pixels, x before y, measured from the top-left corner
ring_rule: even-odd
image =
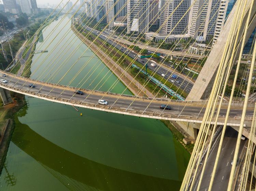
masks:
[[[252,0],[248,0],[247,4],[246,4],[246,9],[245,9],[246,15],[242,22],[239,39],[241,39],[241,37],[243,36],[243,30],[245,27],[246,19],[248,17],[251,2],[252,2]],[[227,21],[218,37],[216,43],[213,46],[213,48],[208,56],[207,61],[203,65],[203,68],[200,71],[200,74],[199,74],[193,88],[191,89],[190,93],[188,94],[186,100],[195,101],[195,100],[204,99],[205,97],[206,98],[209,97],[209,95],[212,91],[212,87],[213,87],[213,83],[214,83],[214,80],[216,77],[217,69],[218,69],[219,63],[221,61],[221,57],[222,57],[222,53],[224,51],[227,37],[228,37],[229,31],[230,31],[230,28],[232,26],[233,19],[235,17],[234,14],[235,14],[236,9],[237,9],[237,3],[234,5],[232,11],[230,12],[230,14],[227,18]],[[248,32],[246,34],[246,41],[251,36],[254,28],[256,27],[256,17],[254,17],[255,14],[256,14],[256,3],[254,3],[254,5],[253,5],[252,14],[251,14],[251,23],[248,27]],[[238,53],[237,53],[234,61],[237,61],[237,59],[239,57],[241,44],[242,44],[242,41],[241,42],[238,41],[238,44],[236,45],[238,47]]]

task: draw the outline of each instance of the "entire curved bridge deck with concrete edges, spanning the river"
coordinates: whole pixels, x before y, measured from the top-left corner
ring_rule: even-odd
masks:
[[[0,70],[0,73],[1,72],[3,73],[2,70]],[[75,87],[59,85],[54,83],[46,83],[42,81],[16,76],[10,73],[5,74],[8,75],[7,77],[5,77],[8,83],[1,83],[0,87],[24,95],[59,102],[67,105],[140,117],[165,119],[173,121],[187,121],[195,123],[202,122],[202,118],[205,112],[206,104],[203,101],[187,102],[159,98],[153,99],[147,97],[136,98],[136,96],[105,93],[101,91],[92,91],[87,89],[81,89],[85,93],[84,95],[74,95],[74,91],[77,90],[77,88]],[[35,87],[30,88],[28,87],[29,84],[34,84]],[[105,99],[110,104],[107,106],[99,105],[97,104],[99,99]],[[133,101],[134,99],[135,101]],[[151,101],[152,103],[150,103]],[[130,104],[131,106],[129,107]],[[172,109],[161,110],[159,108],[160,104],[168,104],[169,106],[171,106]],[[241,103],[237,103],[231,109],[229,116],[230,120],[228,125],[239,126],[239,119],[242,113],[242,107],[240,107],[240,105],[242,106]],[[253,104],[251,105],[253,106]],[[147,106],[148,108],[144,112]],[[247,110],[247,124],[245,124],[245,126],[250,126],[251,124],[253,109],[254,108],[252,107]],[[225,114],[226,108],[224,106],[220,112],[218,120],[219,125],[223,124]]]

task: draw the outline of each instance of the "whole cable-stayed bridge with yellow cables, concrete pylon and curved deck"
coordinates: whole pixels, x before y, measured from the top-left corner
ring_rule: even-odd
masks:
[[[165,20],[161,21],[163,23],[159,26],[159,29],[156,30],[156,33],[161,32],[160,30],[164,30],[165,24],[168,23],[168,20],[173,16],[175,11],[180,11],[179,6],[184,7],[182,4],[183,1],[184,0],[179,1],[170,15],[168,15]],[[71,14],[67,24],[73,21],[73,25],[71,25],[72,30],[77,30],[77,34],[79,33],[83,35],[84,39],[79,42],[79,45],[74,50],[64,49],[63,46],[68,47],[69,45],[62,45],[61,42],[65,37],[69,36],[69,33],[70,31],[72,32],[72,30],[70,29],[65,32],[65,34],[60,37],[59,42],[53,45],[54,48],[52,50],[49,49],[47,56],[42,59],[43,61],[41,63],[39,61],[38,65],[34,66],[35,70],[31,72],[31,76],[36,73],[38,68],[41,67],[49,55],[53,55],[52,58],[47,60],[48,64],[42,66],[43,69],[38,72],[39,74],[37,73],[35,79],[32,79],[31,77],[24,77],[30,73],[30,67],[25,67],[23,71],[19,72],[19,74],[22,74],[21,76],[18,76],[17,73],[12,74],[12,70],[8,73],[6,71],[1,71],[7,75],[4,77],[7,82],[3,83],[3,81],[0,84],[0,87],[3,88],[0,91],[2,99],[6,99],[8,101],[8,92],[5,90],[10,90],[44,100],[88,109],[96,109],[138,117],[200,123],[200,130],[188,164],[187,172],[181,185],[181,191],[211,191],[217,189],[227,191],[235,189],[252,190],[252,183],[255,181],[255,178],[253,177],[255,176],[254,166],[256,158],[256,110],[255,103],[249,102],[248,99],[251,91],[254,92],[255,89],[253,75],[256,59],[256,43],[254,43],[250,51],[250,64],[244,68],[241,61],[243,47],[256,27],[256,3],[254,0],[239,0],[236,2],[229,16],[227,18],[223,18],[223,27],[221,31],[218,31],[219,36],[217,41],[212,45],[211,50],[205,53],[205,55],[191,55],[186,51],[187,46],[183,47],[180,55],[179,53],[174,52],[175,48],[179,46],[180,43],[184,43],[182,38],[177,38],[176,41],[168,48],[168,51],[165,52],[160,49],[163,42],[165,42],[165,39],[160,42],[160,44],[157,45],[158,47],[155,49],[151,48],[153,54],[160,51],[165,54],[162,59],[158,60],[158,67],[155,69],[151,68],[150,75],[154,76],[159,80],[159,82],[165,85],[161,86],[159,90],[158,84],[155,84],[153,90],[151,89],[152,95],[153,93],[156,93],[154,97],[140,96],[141,93],[143,93],[142,89],[140,89],[138,94],[134,96],[125,95],[124,92],[120,94],[110,93],[111,88],[116,84],[116,82],[114,82],[113,86],[110,87],[109,91],[105,92],[97,91],[95,88],[92,88],[92,90],[84,89],[81,84],[88,81],[91,74],[97,70],[100,65],[98,62],[95,62],[95,68],[90,69],[87,74],[84,74],[85,77],[82,79],[81,84],[79,83],[76,87],[70,87],[70,84],[83,71],[83,68],[87,66],[88,62],[92,58],[85,61],[81,69],[79,68],[77,73],[72,76],[71,80],[66,85],[60,83],[65,76],[71,75],[69,73],[70,70],[77,66],[77,61],[71,63],[70,58],[74,55],[74,52],[79,50],[84,41],[86,41],[87,48],[82,52],[81,56],[77,58],[77,60],[82,58],[83,54],[90,47],[98,47],[94,51],[96,55],[98,55],[97,53],[100,51],[104,51],[104,56],[110,57],[116,62],[116,64],[123,67],[123,71],[119,76],[117,76],[118,79],[116,81],[122,81],[122,76],[125,76],[129,72],[129,69],[134,66],[134,63],[137,64],[137,55],[141,55],[143,50],[147,49],[151,41],[153,41],[152,38],[148,42],[144,42],[140,45],[140,50],[137,50],[136,53],[133,51],[132,47],[134,44],[129,42],[130,36],[133,36],[133,43],[141,41],[141,39],[143,39],[143,35],[140,35],[140,33],[145,32],[150,25],[152,25],[146,21],[150,14],[150,7],[148,6],[147,1],[138,1],[137,3],[126,1],[122,5],[123,9],[125,9],[126,6],[129,7],[129,11],[127,12],[127,27],[121,29],[121,31],[123,31],[118,34],[118,37],[114,36],[114,32],[108,33],[108,35],[103,35],[103,32],[107,31],[107,29],[113,29],[112,24],[115,17],[113,17],[113,15],[111,16],[111,14],[112,12],[114,13],[116,8],[115,6],[118,1],[111,1],[110,3],[107,2],[108,4],[106,5],[107,9],[105,14],[107,15],[107,24],[101,27],[101,31],[96,33],[96,29],[104,18],[102,17],[98,22],[95,22],[94,18],[98,16],[97,14],[100,13],[100,9],[103,9],[102,7],[104,6],[99,6],[99,8],[97,8],[99,9],[98,11],[93,10],[94,8],[83,9],[81,11],[81,8],[85,3],[86,1],[84,1],[81,4],[80,9],[75,12],[71,11],[75,4],[69,11],[65,12],[65,16]],[[98,1],[93,2],[93,7],[98,7],[99,3],[100,2]],[[161,9],[158,11],[159,14],[166,11],[166,7],[169,7],[169,3],[170,1],[162,1]],[[185,12],[179,15],[175,26],[167,33],[171,35],[175,28],[179,28],[179,24],[184,21],[183,18],[189,14],[189,11],[192,13],[191,19],[188,20],[190,32],[191,26],[193,28],[194,25],[200,25],[197,29],[193,28],[197,30],[194,31],[195,34],[201,34],[204,36],[205,31],[206,33],[211,33],[211,28],[215,28],[217,26],[217,20],[214,20],[214,18],[216,18],[217,15],[222,14],[223,6],[226,6],[225,3],[225,1],[205,1],[203,2],[203,6],[201,6],[199,1],[192,1],[191,4],[187,3],[188,7]],[[196,10],[198,4],[200,4],[201,7]],[[212,8],[209,9],[208,7]],[[115,14],[118,15],[120,12],[122,12],[122,8]],[[200,17],[201,15],[206,16],[200,18],[200,22],[198,22],[195,17]],[[130,18],[136,19],[130,21]],[[158,16],[155,15],[153,20],[157,20],[157,18]],[[215,24],[213,24],[214,22]],[[58,24],[56,26],[57,27],[53,31],[57,29],[57,31],[61,31],[61,29],[58,28]],[[87,27],[85,26],[90,26],[91,30],[87,30]],[[188,28],[185,27],[184,31],[181,32],[181,35],[188,33]],[[58,32],[58,34],[59,33],[60,32]],[[101,35],[104,36],[104,38]],[[44,42],[47,42],[49,39],[48,44],[42,43],[37,47],[42,52],[37,54],[39,56],[34,60],[34,62],[39,60],[45,50],[48,50],[49,45],[51,45],[56,36],[53,32],[50,32],[44,37]],[[186,42],[187,45],[194,45],[196,43],[196,41],[193,40],[193,37],[194,36],[191,36],[191,39]],[[34,38],[34,36],[32,38]],[[168,35],[166,36],[166,39],[167,38]],[[118,41],[115,40],[116,43],[112,43],[114,39],[118,39]],[[212,44],[212,40],[213,38],[210,39],[209,44]],[[109,44],[109,42],[111,43]],[[121,51],[122,46],[120,44],[126,44],[128,46],[127,50]],[[44,48],[42,48],[43,45],[45,45]],[[53,50],[57,51],[54,52]],[[27,51],[26,53],[30,52]],[[129,54],[132,54],[133,56],[130,56]],[[33,54],[31,54],[30,57],[32,57],[32,55]],[[61,60],[60,57],[64,57],[64,59]],[[102,59],[102,57],[99,56],[100,59]],[[208,59],[205,63],[199,61],[206,57],[208,57]],[[169,58],[171,58],[173,62],[172,68],[165,67],[165,70],[163,70],[163,66]],[[175,90],[173,90],[175,93],[171,95],[172,97],[175,97],[175,94],[177,95],[178,93],[183,95],[187,86],[191,85],[188,83],[190,80],[189,75],[186,76],[184,75],[184,72],[182,72],[185,67],[181,67],[183,63],[180,61],[180,58],[183,58],[181,60],[185,60],[185,58],[198,59],[195,64],[198,67],[194,68],[194,65],[191,70],[196,73],[200,73],[193,84],[192,89],[189,90],[186,101],[167,99],[163,98],[163,96],[159,97],[158,94],[162,90],[162,87],[167,87],[170,82],[172,85],[177,85],[178,82],[171,79],[171,76],[174,73],[177,77],[181,78],[182,76],[183,79],[185,79],[182,81],[182,85],[179,85]],[[138,79],[142,71],[150,69],[146,66],[147,63],[149,64],[151,62],[150,59],[143,61],[145,63],[143,62],[144,64],[140,69],[137,68],[138,70],[133,76],[134,79]],[[56,65],[56,67],[50,67],[50,65]],[[41,76],[47,76],[49,73],[57,75],[66,65],[68,65],[69,68],[58,82],[52,83],[49,79],[43,81],[38,80]],[[31,66],[33,66],[33,63]],[[200,71],[199,68],[201,68]],[[110,67],[109,71],[112,72],[114,70],[116,70],[115,67]],[[159,73],[159,71],[161,72]],[[240,73],[243,74],[241,75]],[[150,79],[151,78],[145,77],[144,80],[141,80],[141,86],[146,88],[147,85],[150,84]],[[97,85],[102,86],[107,82],[107,80],[108,78],[103,78]],[[246,84],[241,81],[246,81]],[[35,85],[35,87],[29,87],[29,84]],[[131,88],[131,84],[132,80],[128,83],[127,89]],[[171,87],[172,86],[170,85],[169,89],[171,89]],[[244,99],[241,102],[234,100],[235,97],[240,96],[236,95],[236,89],[239,89],[244,93]],[[83,91],[84,94],[77,95],[77,91]],[[224,95],[227,91],[230,92],[230,98],[226,101],[224,99]],[[202,100],[203,98],[205,98],[204,101]],[[108,104],[99,105],[99,100],[101,99],[108,101]],[[160,105],[166,105],[165,109],[161,110]],[[168,106],[171,107],[171,110],[167,110]],[[229,126],[232,126],[236,131],[232,130]],[[247,127],[250,129],[246,129]],[[242,137],[242,134],[245,135],[245,133],[248,138],[247,140],[243,140],[245,138]]]

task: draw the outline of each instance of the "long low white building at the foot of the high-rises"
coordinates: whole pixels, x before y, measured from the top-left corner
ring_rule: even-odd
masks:
[[[145,39],[147,41],[152,42],[161,42],[164,41],[165,43],[174,43],[179,42],[181,39],[184,41],[188,41],[190,38],[187,34],[155,34],[155,32],[147,32],[145,33]]]

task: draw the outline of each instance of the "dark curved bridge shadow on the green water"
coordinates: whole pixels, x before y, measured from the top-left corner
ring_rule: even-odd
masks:
[[[181,181],[132,173],[76,155],[48,141],[15,119],[12,142],[54,171],[100,190],[179,190]],[[31,139],[31,137],[33,139]],[[51,157],[49,157],[49,154]]]

